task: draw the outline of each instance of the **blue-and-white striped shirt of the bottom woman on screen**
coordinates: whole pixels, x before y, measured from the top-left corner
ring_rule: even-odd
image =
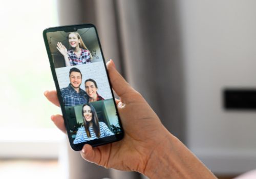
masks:
[[[109,127],[104,122],[99,122],[99,128],[100,128],[100,137],[99,138],[114,135],[114,133],[109,129]],[[77,133],[76,133],[76,138],[73,143],[78,144],[78,143],[97,139],[97,136],[95,135],[93,127],[89,127],[89,131],[91,134],[90,138],[87,136],[86,129],[84,129],[84,127],[78,128]]]

